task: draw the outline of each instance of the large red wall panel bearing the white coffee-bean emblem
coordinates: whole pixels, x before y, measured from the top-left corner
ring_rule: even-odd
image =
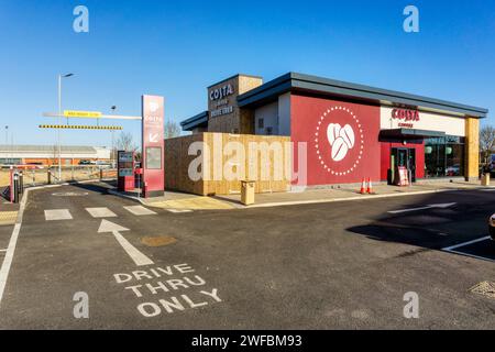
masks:
[[[308,147],[308,185],[380,179],[380,107],[293,95],[290,109],[292,141]]]

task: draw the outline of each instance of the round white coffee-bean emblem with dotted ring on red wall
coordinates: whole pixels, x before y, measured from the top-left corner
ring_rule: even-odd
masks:
[[[350,175],[360,165],[364,132],[360,119],[351,109],[337,106],[323,112],[315,136],[318,161],[331,175]]]

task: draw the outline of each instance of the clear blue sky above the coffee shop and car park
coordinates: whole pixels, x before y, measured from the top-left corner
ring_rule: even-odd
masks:
[[[89,9],[89,33],[73,9]],[[420,32],[403,31],[403,10]],[[488,108],[495,124],[495,2],[0,0],[0,143],[53,144],[40,130],[57,110],[140,114],[142,94],[163,95],[166,119],[204,111],[206,87],[237,73],[265,80],[320,75]],[[80,120],[81,123],[87,122]],[[122,122],[140,140],[139,122]],[[64,131],[64,144],[110,145],[108,131]],[[10,138],[9,138],[10,143]]]

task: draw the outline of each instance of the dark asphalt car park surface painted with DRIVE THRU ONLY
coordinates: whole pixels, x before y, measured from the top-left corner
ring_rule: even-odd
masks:
[[[495,245],[444,249],[486,237],[494,210],[475,190],[187,213],[34,190],[0,328],[493,329],[495,300],[470,288],[495,280]]]

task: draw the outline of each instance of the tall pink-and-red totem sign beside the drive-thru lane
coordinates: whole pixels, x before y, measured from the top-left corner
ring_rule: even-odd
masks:
[[[142,168],[144,197],[163,196],[164,170],[164,98],[142,97]]]

